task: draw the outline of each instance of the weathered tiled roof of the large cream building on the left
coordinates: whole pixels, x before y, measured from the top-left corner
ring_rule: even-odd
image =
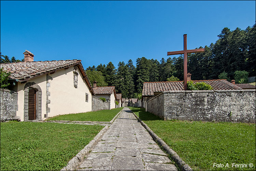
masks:
[[[60,60],[60,61],[34,61],[34,62],[16,62],[1,64],[1,68],[6,72],[11,72],[11,79],[25,79],[42,75],[61,68],[80,63],[81,60]]]

